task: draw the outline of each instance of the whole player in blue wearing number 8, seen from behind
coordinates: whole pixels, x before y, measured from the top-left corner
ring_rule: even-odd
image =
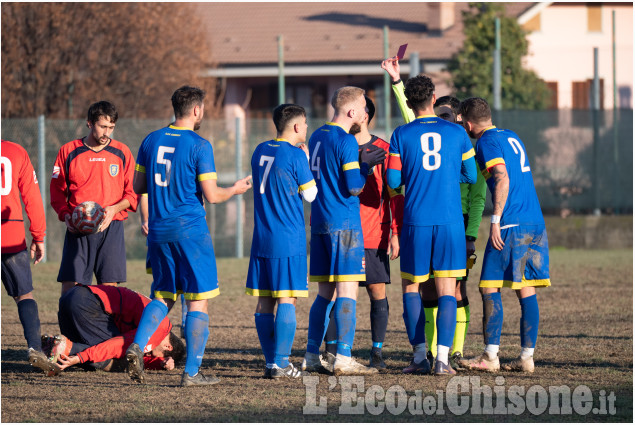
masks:
[[[416,119],[398,127],[390,140],[388,185],[405,184],[401,232],[404,321],[413,346],[413,368],[428,373],[425,312],[419,284],[434,270],[439,310],[435,374],[456,373],[449,350],[456,326],[456,278],[465,276],[465,229],[459,182],[476,182],[474,149],[457,124],[434,114],[434,84],[425,75],[406,83],[407,105]]]

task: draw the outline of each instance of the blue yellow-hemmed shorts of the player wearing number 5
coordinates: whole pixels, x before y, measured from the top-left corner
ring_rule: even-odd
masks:
[[[175,242],[148,242],[154,296],[176,301],[206,300],[219,294],[216,258],[209,233]]]

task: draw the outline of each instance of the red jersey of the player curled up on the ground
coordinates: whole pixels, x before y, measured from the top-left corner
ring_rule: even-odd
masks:
[[[93,294],[101,300],[104,311],[113,316],[120,336],[110,338],[101,344],[94,345],[84,351],[77,353],[80,361],[102,362],[108,359],[122,358],[126,350],[134,341],[137,327],[141,321],[141,314],[146,305],[150,303],[150,298],[141,295],[131,289],[124,287],[106,285],[87,285]],[[150,341],[144,347],[143,352],[149,353],[154,347],[159,345],[172,330],[172,323],[166,317],[159,324],[159,328],[152,334]],[[146,367],[157,363],[155,357],[144,356]],[[148,369],[152,367],[147,367]]]

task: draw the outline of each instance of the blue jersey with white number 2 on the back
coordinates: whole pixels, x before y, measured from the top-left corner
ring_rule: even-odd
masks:
[[[509,176],[509,193],[501,216],[501,227],[545,223],[531,175],[527,151],[520,137],[511,130],[490,127],[476,142],[476,161],[490,192],[496,182],[489,171],[504,164]]]

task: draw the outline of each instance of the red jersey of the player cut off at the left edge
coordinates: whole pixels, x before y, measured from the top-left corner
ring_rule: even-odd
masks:
[[[22,204],[31,225],[29,230],[36,242],[43,242],[46,234],[44,205],[35,170],[24,148],[2,140],[2,253],[14,253],[26,249]]]

